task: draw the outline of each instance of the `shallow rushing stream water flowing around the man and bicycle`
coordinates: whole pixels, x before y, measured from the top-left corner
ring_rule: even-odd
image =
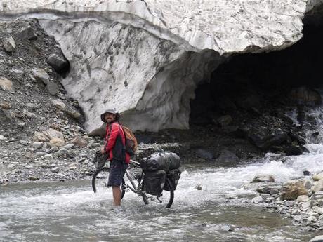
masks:
[[[2,186],[0,241],[309,241],[315,234],[291,220],[242,199],[226,203],[256,196],[245,184],[258,173],[284,182],[321,171],[323,145],[307,148],[234,168],[186,164],[170,209],[145,206],[130,191],[114,208],[111,196],[93,194],[90,180]]]

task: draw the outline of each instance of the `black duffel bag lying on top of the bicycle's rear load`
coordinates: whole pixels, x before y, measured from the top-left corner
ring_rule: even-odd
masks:
[[[155,152],[141,162],[143,171],[169,170],[180,168],[180,157],[172,152]]]

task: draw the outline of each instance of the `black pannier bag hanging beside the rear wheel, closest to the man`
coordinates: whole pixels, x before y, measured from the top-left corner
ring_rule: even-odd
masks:
[[[165,180],[165,170],[146,172],[143,180],[143,190],[146,191],[147,194],[162,196]]]

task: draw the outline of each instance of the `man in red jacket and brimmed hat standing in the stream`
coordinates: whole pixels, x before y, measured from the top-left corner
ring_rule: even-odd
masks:
[[[120,114],[114,110],[107,110],[101,114],[101,120],[107,123],[105,146],[102,147],[101,153],[108,154],[110,159],[109,180],[107,187],[112,187],[114,205],[121,204],[121,183],[130,156],[126,153],[126,140],[124,130],[120,123]]]

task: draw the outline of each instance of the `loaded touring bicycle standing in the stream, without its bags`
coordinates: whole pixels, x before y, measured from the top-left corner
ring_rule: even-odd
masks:
[[[110,191],[112,197],[111,187],[106,186],[106,182],[109,178],[109,167],[103,166],[95,171],[92,177],[92,188],[95,193]],[[147,194],[143,187],[143,180],[145,179],[145,173],[137,161],[131,160],[125,173],[126,180],[122,179],[121,184],[121,199],[127,191],[133,191],[138,196],[143,198],[143,202],[147,205],[150,201],[157,203],[166,203],[166,208],[171,208],[174,199],[174,191],[171,180],[166,175],[165,186],[169,191],[163,190],[162,196],[154,196]]]

